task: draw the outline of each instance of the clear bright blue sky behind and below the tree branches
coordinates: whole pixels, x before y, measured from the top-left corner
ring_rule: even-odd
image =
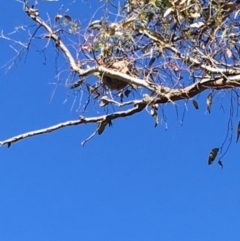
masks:
[[[39,8],[53,17],[65,4],[85,21],[97,1],[68,3],[40,2]],[[31,24],[16,1],[4,1],[0,13],[6,33]],[[14,52],[3,40],[0,49],[3,66]],[[71,110],[74,95],[63,86],[48,103],[56,81],[52,56],[43,65],[43,55],[32,48],[25,62],[0,70],[1,140],[78,117],[77,106]],[[163,123],[154,128],[143,112],[115,121],[85,147],[81,142],[94,125],[1,147],[0,240],[240,240],[240,143],[234,140],[224,169],[207,165],[209,151],[224,140],[229,104],[225,97],[222,111],[219,95],[209,115],[206,95],[198,111],[188,104],[183,126],[169,104],[167,131]]]

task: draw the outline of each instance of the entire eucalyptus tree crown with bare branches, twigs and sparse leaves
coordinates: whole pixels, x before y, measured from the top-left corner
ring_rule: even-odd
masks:
[[[199,109],[198,99],[204,91],[208,92],[209,113],[217,96],[228,98],[232,121],[239,107],[240,0],[101,2],[87,24],[61,9],[44,18],[38,5],[24,2],[24,12],[35,26],[27,29],[30,37],[26,34],[22,42],[17,31],[15,38],[2,31],[0,37],[13,42],[17,52],[8,68],[39,39],[43,53],[55,48],[54,58],[64,57],[68,66],[64,84],[82,95],[82,114],[77,120],[14,136],[0,145],[10,146],[66,126],[95,123],[96,131],[84,145],[116,119],[145,110],[157,126],[167,104],[192,102]],[[88,109],[96,114],[85,115]],[[238,141],[240,125],[235,129]],[[232,132],[227,132],[232,139]],[[209,164],[217,152],[213,147]]]

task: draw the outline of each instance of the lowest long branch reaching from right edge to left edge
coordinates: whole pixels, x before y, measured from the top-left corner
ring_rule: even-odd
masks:
[[[144,97],[143,100],[135,100],[132,103],[135,105],[132,109],[126,110],[126,111],[118,111],[109,115],[102,115],[98,117],[80,117],[79,120],[73,120],[73,121],[66,121],[48,128],[36,130],[27,132],[25,134],[21,134],[12,138],[9,138],[5,141],[0,142],[0,146],[8,145],[10,146],[12,143],[20,141],[22,139],[26,139],[28,137],[41,135],[45,133],[50,133],[52,131],[56,131],[58,129],[67,127],[67,126],[74,126],[74,125],[80,125],[80,124],[87,124],[87,123],[100,123],[103,121],[110,122],[112,120],[123,118],[127,116],[134,115],[138,112],[141,112],[147,105],[149,104],[164,104],[168,102],[173,101],[179,101],[182,99],[190,99],[194,97],[195,95],[200,94],[206,89],[213,88],[213,89],[223,89],[223,88],[233,88],[240,86],[240,76],[238,76],[238,79],[235,81],[235,77],[232,77],[232,80],[224,80],[224,78],[218,78],[216,80],[204,80],[198,83],[195,83],[193,85],[190,85],[183,89],[171,89],[168,93],[162,94],[160,97]]]

